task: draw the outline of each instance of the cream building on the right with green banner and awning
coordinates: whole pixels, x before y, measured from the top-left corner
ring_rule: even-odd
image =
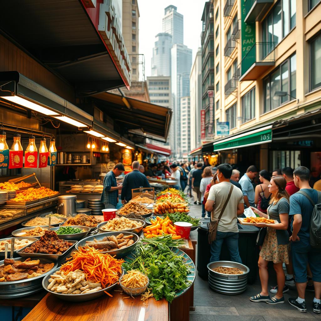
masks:
[[[321,2],[211,3],[218,126],[203,147],[241,170],[304,165],[319,177]]]

